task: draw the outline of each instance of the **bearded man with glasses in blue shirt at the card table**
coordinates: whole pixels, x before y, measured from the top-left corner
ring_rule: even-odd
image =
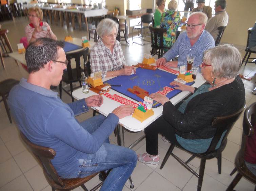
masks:
[[[203,52],[215,46],[212,35],[204,30],[206,23],[205,13],[192,13],[186,23],[186,32],[179,35],[172,48],[158,59],[156,64],[165,67],[179,67],[186,63],[187,56],[193,56],[193,65],[199,66],[202,63]],[[177,55],[179,55],[178,61],[170,61]]]

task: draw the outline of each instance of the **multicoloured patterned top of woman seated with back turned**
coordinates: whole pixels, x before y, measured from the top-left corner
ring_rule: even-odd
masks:
[[[163,13],[160,28],[167,30],[167,32],[163,34],[163,46],[173,46],[176,40],[176,31],[180,25],[180,21],[179,11],[167,10]]]

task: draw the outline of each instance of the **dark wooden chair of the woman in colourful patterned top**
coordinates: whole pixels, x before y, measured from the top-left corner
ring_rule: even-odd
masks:
[[[158,58],[160,58],[163,56],[164,49],[171,48],[171,47],[163,46],[163,34],[166,32],[166,29],[153,28],[150,26],[149,30],[150,30],[150,35],[151,35],[151,47],[152,47],[151,55],[154,56],[155,54],[157,54]],[[157,43],[157,41],[159,43]]]

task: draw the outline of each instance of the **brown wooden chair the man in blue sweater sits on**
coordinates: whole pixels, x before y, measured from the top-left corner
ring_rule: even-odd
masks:
[[[79,186],[83,188],[83,190],[88,191],[85,187],[84,183],[91,180],[98,173],[94,173],[92,175],[86,176],[84,178],[74,178],[74,179],[62,179],[59,177],[56,169],[54,168],[51,160],[56,156],[56,152],[52,148],[39,146],[27,139],[27,137],[20,131],[20,136],[22,140],[27,145],[28,149],[33,153],[33,155],[37,158],[39,164],[43,168],[44,176],[47,182],[51,185],[52,190],[73,190]],[[104,171],[101,172],[103,178],[106,178],[106,174]],[[98,189],[103,182],[96,185],[92,190]],[[92,191],[91,190],[91,191]]]

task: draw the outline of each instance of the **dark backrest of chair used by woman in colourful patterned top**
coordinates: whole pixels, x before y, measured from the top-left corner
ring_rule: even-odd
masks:
[[[151,35],[151,47],[155,49],[161,49],[163,47],[163,34],[166,32],[166,29],[163,28],[153,28],[149,27],[150,35]],[[159,45],[157,44],[157,40],[160,39]]]

